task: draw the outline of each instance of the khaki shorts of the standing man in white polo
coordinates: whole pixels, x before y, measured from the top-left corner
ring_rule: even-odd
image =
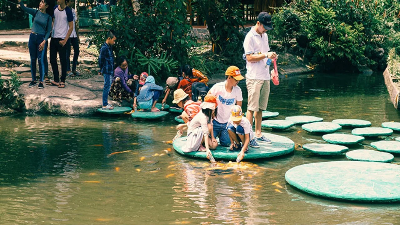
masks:
[[[266,110],[268,97],[270,96],[270,80],[246,79],[247,86],[247,110],[257,112]]]

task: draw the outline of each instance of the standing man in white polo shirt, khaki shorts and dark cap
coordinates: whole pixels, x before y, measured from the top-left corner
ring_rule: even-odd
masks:
[[[270,95],[270,62],[275,58],[275,52],[270,52],[267,30],[272,30],[271,15],[260,12],[257,24],[253,26],[244,38],[243,48],[246,54],[246,86],[248,92],[247,119],[253,124],[253,115],[256,120],[256,141],[271,143],[261,134],[262,110],[267,109]]]

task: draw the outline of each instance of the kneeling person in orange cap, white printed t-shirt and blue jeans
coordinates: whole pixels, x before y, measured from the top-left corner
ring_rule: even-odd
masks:
[[[230,109],[235,104],[242,106],[242,90],[238,87],[238,83],[244,77],[236,66],[229,66],[225,71],[225,77],[226,80],[214,84],[208,94],[215,95],[218,103],[218,112],[212,121],[214,133],[214,137],[212,138],[219,137],[220,145],[228,147],[230,145],[230,138],[226,127],[228,126]]]

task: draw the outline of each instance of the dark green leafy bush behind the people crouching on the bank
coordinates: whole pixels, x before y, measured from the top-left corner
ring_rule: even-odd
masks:
[[[117,36],[115,56],[128,57],[130,72],[146,71],[158,81],[173,75],[177,62],[186,62],[194,45],[192,26],[186,23],[185,1],[144,0],[136,15],[127,2],[120,2],[108,19],[100,22],[104,32],[92,27],[91,43],[100,49],[106,31],[113,30]]]

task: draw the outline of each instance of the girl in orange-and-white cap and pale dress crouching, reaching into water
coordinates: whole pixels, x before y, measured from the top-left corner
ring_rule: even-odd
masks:
[[[200,104],[202,110],[194,116],[188,125],[188,138],[185,152],[201,151],[207,153],[208,159],[213,159],[210,149],[216,149],[218,142],[214,139],[212,119],[217,113],[217,97],[208,94]]]

